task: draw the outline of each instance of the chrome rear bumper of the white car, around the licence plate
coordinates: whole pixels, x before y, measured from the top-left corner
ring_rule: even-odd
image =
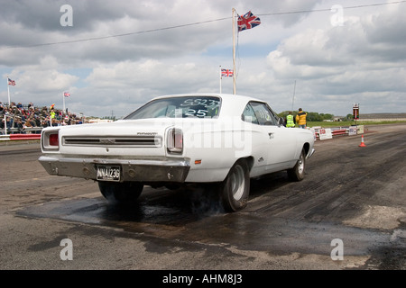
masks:
[[[183,183],[189,173],[186,159],[124,160],[42,156],[38,159],[50,175],[97,179],[97,165],[121,166],[121,181]]]

